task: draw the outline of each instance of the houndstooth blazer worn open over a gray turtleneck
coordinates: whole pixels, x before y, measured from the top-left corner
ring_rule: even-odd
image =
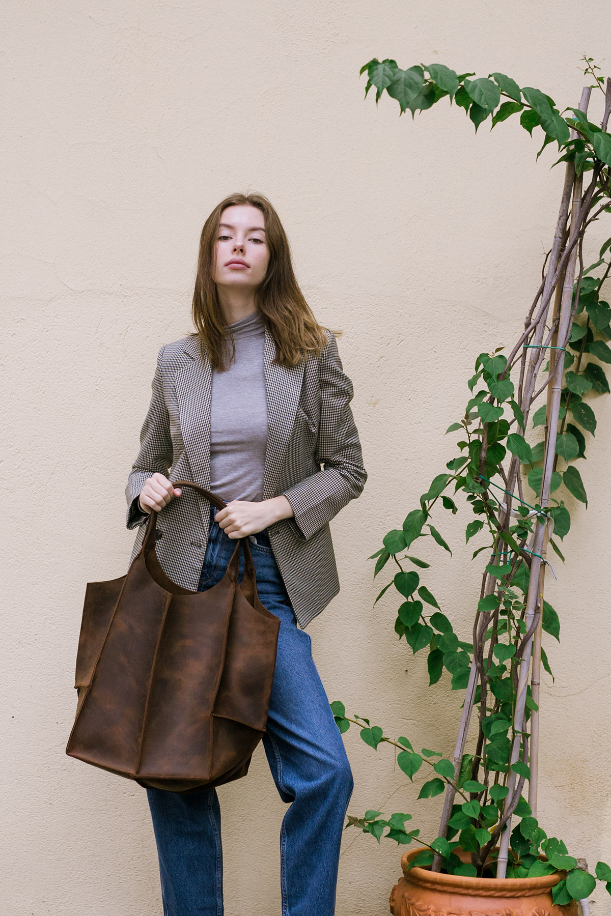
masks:
[[[306,627],[339,592],[329,521],[366,482],[361,446],[332,333],[321,354],[300,365],[274,363],[276,345],[266,333],[267,449],[263,498],[283,494],[294,518],[269,528],[269,539],[300,627]],[[140,452],[127,481],[127,528],[147,515],[137,504],[156,472],[210,489],[210,409],[213,375],[196,337],[161,348],[153,396],[140,434]],[[322,465],[322,467],[321,467]],[[158,515],[157,554],[175,583],[195,590],[208,540],[210,506],[185,487]]]

